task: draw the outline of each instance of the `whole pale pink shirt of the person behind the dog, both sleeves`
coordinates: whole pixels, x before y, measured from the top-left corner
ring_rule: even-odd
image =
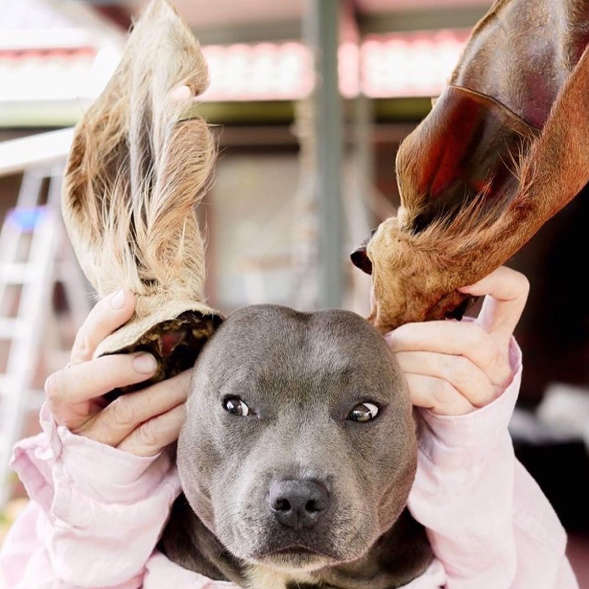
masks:
[[[423,411],[409,508],[436,559],[406,589],[575,589],[566,535],[517,462],[507,425],[514,379],[496,401],[460,417]],[[163,452],[137,458],[58,427],[16,445],[12,466],[32,501],[0,554],[2,589],[221,589],[154,550],[180,491]]]

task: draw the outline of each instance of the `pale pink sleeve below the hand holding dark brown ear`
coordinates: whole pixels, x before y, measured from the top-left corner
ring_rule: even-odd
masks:
[[[469,415],[420,411],[418,471],[409,496],[444,565],[447,589],[575,589],[567,537],[542,491],[519,464],[508,433],[521,381]]]

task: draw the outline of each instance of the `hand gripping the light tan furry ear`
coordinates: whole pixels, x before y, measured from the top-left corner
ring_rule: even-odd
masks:
[[[78,332],[68,366],[45,382],[49,411],[58,425],[137,456],[153,456],[176,441],[184,422],[190,371],[121,395],[102,395],[153,376],[155,358],[144,352],[92,359],[98,344],[133,315],[133,294],[119,291],[91,310]]]

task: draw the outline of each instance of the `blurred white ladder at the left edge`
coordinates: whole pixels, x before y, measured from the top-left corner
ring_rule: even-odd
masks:
[[[76,325],[89,307],[59,214],[61,174],[59,164],[26,170],[16,208],[7,214],[0,230],[0,345],[6,358],[4,370],[0,366],[0,508],[15,481],[8,468],[12,446],[24,431],[28,413],[42,404],[42,391],[34,391],[32,383],[53,312],[55,281],[64,284]],[[45,178],[49,181],[47,204],[40,206]],[[59,263],[64,245],[68,267]]]

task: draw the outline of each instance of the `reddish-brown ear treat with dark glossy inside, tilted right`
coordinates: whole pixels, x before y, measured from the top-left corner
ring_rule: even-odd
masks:
[[[496,0],[474,28],[399,149],[401,207],[355,253],[380,330],[461,309],[589,181],[587,31],[584,0]]]

